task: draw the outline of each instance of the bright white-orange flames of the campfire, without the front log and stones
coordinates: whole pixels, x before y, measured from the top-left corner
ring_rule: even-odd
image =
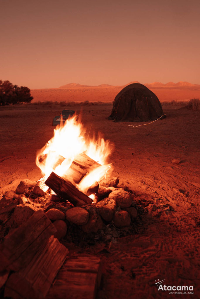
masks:
[[[75,156],[83,152],[102,166],[93,168],[76,185],[82,192],[95,181],[100,182],[105,175],[108,176],[108,172],[111,172],[111,164],[107,164],[111,144],[109,140],[105,141],[100,136],[97,140],[95,138],[88,140],[83,124],[75,115],[67,119],[64,124],[58,125],[54,129],[54,136],[37,152],[36,164],[44,176],[44,181],[52,171],[58,176],[64,176]]]

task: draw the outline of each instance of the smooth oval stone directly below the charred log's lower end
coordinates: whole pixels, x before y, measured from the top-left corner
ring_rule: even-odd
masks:
[[[86,224],[89,219],[88,211],[86,211],[85,209],[82,209],[82,208],[78,208],[78,207],[71,208],[71,209],[67,210],[67,212],[65,213],[65,216],[69,222],[72,222],[77,225]]]

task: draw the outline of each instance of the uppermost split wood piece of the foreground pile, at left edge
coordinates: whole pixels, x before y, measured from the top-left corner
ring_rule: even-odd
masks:
[[[9,233],[0,244],[0,271],[19,271],[26,267],[35,253],[45,246],[56,228],[42,210],[36,211],[25,223]]]

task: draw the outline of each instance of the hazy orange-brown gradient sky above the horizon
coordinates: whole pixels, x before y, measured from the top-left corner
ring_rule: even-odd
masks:
[[[0,0],[0,79],[200,84],[199,0]]]

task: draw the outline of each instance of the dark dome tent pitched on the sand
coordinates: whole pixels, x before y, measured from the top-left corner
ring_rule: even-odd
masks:
[[[163,114],[157,96],[146,86],[133,83],[124,87],[116,95],[109,119],[115,121],[149,121],[156,120]]]

